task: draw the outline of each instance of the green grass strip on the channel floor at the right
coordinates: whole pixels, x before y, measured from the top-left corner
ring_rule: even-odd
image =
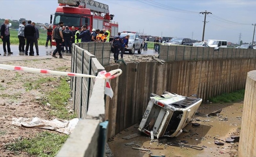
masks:
[[[243,100],[245,97],[245,89],[235,91],[232,93],[223,93],[217,97],[210,98],[209,101],[212,103],[227,103]]]

